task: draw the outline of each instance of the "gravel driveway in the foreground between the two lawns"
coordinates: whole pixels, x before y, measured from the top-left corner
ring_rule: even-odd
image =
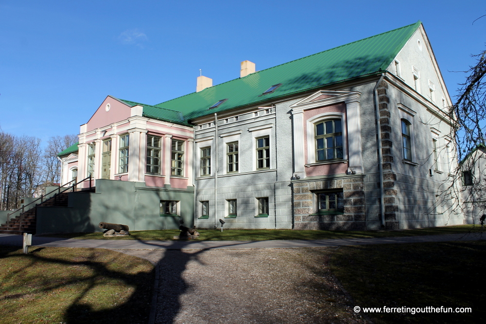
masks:
[[[158,264],[155,323],[367,323],[328,269],[333,251],[122,252]]]

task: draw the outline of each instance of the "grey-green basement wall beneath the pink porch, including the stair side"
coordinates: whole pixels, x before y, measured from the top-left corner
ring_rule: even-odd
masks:
[[[38,207],[37,233],[102,232],[100,222],[130,231],[177,229],[179,217],[160,216],[160,201],[180,201],[184,225],[193,225],[193,188],[146,187],[145,183],[96,180],[96,193],[70,192],[68,207]]]

